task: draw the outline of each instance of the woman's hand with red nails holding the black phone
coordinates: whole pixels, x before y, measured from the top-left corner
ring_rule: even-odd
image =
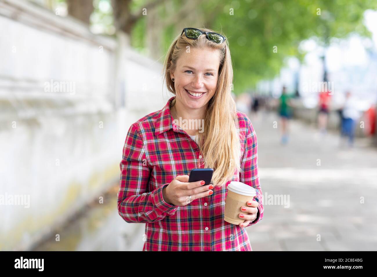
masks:
[[[203,185],[204,181],[190,182],[189,175],[178,175],[169,185],[162,189],[164,201],[170,205],[185,206],[195,199],[213,193],[213,185]]]

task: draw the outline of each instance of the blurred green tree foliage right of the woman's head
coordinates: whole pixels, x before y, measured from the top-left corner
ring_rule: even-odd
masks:
[[[236,3],[232,1],[224,6],[224,12],[216,18],[218,28],[214,28],[221,27],[230,41],[235,93],[263,78],[274,77],[284,66],[285,57],[296,56],[302,60],[304,53],[298,51],[302,40],[317,37],[326,46],[331,37],[344,38],[350,33],[369,36],[362,23],[363,12],[377,8],[377,2],[368,0]],[[234,15],[229,14],[231,8]],[[277,46],[276,53],[274,46]]]

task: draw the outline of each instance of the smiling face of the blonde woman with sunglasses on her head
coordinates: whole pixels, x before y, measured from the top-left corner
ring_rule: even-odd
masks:
[[[191,48],[190,53],[184,51],[170,74],[170,78],[174,78],[178,106],[187,110],[206,107],[216,91],[219,66],[219,50]]]

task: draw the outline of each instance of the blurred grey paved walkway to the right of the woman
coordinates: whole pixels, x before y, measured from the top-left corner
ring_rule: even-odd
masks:
[[[276,115],[250,119],[265,204],[264,219],[248,227],[253,250],[377,250],[377,149],[363,139],[340,148],[336,133],[322,137],[297,120],[282,145]],[[289,196],[289,206],[271,195]]]

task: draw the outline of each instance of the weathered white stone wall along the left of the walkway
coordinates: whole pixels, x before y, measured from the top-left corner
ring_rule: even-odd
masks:
[[[26,1],[0,2],[0,61],[0,197],[29,197],[0,205],[0,250],[28,249],[119,182],[130,124],[168,96],[160,63]]]

